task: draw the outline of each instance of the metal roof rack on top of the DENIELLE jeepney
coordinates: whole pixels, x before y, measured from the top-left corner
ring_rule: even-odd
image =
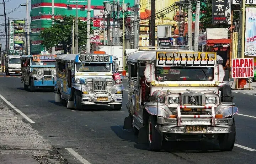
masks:
[[[189,50],[188,45],[138,46],[139,50]]]

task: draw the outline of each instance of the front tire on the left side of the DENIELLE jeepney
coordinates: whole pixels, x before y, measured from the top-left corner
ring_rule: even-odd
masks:
[[[156,130],[156,117],[149,116],[148,119],[148,144],[151,151],[159,151],[162,147],[162,132]]]

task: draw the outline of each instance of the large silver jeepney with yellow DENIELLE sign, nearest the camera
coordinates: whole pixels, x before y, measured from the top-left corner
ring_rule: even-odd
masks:
[[[138,141],[159,150],[163,140],[215,139],[222,151],[233,149],[238,108],[223,83],[229,73],[220,56],[186,49],[138,50],[126,60],[129,116],[123,128],[138,133]]]

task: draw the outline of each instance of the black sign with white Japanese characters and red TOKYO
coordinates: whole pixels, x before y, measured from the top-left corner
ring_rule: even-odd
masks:
[[[212,1],[212,24],[230,24],[231,20],[230,0]]]

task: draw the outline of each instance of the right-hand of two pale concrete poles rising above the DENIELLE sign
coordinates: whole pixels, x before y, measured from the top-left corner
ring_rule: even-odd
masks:
[[[196,21],[194,32],[194,51],[198,51],[198,37],[199,37],[199,14],[200,14],[200,1],[196,4]]]

